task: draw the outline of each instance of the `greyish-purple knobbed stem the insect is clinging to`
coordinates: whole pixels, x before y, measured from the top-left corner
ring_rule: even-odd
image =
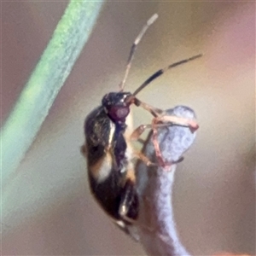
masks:
[[[195,119],[192,109],[179,106],[167,110],[170,115]],[[161,154],[166,162],[179,160],[195,139],[188,127],[169,126],[158,128]],[[152,134],[148,136],[143,153],[155,162]],[[140,215],[137,223],[140,240],[148,255],[190,255],[177,235],[173,216],[172,192],[177,165],[171,170],[143,163],[137,166],[137,192],[140,197]]]

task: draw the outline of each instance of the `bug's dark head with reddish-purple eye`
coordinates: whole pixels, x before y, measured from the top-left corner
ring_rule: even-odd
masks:
[[[115,123],[125,122],[130,113],[131,106],[130,92],[110,92],[103,96],[102,106],[105,108],[110,119]]]

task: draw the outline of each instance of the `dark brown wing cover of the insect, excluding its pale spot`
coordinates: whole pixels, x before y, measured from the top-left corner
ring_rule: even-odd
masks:
[[[90,166],[96,164],[98,160],[106,154],[106,147],[109,143],[111,129],[111,119],[105,113],[104,108],[99,107],[93,110],[85,119],[84,133],[86,138],[87,163]],[[113,167],[112,167],[113,168]],[[109,170],[109,176],[99,183],[95,177],[89,173],[90,189],[95,195],[96,201],[112,218],[119,219],[119,204],[122,195],[123,173]]]

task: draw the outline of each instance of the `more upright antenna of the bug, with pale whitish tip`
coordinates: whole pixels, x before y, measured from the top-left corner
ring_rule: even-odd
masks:
[[[129,55],[129,58],[128,58],[128,61],[127,61],[127,66],[126,66],[126,70],[125,70],[125,77],[122,81],[121,84],[119,84],[119,88],[120,88],[120,91],[123,91],[124,88],[125,88],[125,82],[126,82],[126,79],[128,77],[128,73],[130,71],[130,68],[131,68],[131,61],[134,57],[134,53],[135,53],[135,50],[137,49],[137,44],[140,43],[141,39],[143,38],[143,35],[144,33],[148,30],[148,27],[154,23],[154,21],[158,18],[158,15],[157,14],[154,14],[148,21],[147,21],[147,24],[145,26],[143,26],[143,29],[142,31],[138,34],[137,38],[135,39],[134,43],[131,45],[131,50],[130,50],[130,55]]]

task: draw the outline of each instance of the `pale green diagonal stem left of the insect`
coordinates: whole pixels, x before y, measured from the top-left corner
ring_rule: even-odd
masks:
[[[71,0],[68,4],[44,54],[1,130],[2,182],[19,166],[36,137],[90,36],[102,2]]]

